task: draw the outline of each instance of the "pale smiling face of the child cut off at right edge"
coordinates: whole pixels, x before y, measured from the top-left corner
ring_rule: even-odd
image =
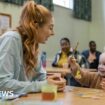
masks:
[[[101,76],[105,76],[105,53],[100,55],[98,72]]]

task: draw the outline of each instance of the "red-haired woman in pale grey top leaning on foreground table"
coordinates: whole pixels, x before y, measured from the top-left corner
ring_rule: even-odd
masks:
[[[19,26],[0,37],[0,89],[14,93],[39,92],[48,83],[63,90],[65,80],[48,77],[38,62],[39,43],[54,34],[53,17],[42,5],[28,1],[22,10]],[[34,81],[33,81],[34,78]]]

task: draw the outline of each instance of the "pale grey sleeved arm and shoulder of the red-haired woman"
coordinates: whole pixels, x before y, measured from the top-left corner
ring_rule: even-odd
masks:
[[[0,38],[0,90],[12,90],[14,93],[38,92],[47,81],[26,81],[19,43],[19,38],[14,36]]]

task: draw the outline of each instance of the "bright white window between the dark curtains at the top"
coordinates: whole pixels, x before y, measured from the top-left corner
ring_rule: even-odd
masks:
[[[53,0],[53,3],[56,5],[73,9],[73,0]]]

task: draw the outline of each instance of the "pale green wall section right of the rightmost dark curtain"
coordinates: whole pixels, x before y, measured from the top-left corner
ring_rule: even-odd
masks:
[[[105,0],[92,0],[92,7],[89,39],[95,40],[97,48],[103,51],[105,46]]]

